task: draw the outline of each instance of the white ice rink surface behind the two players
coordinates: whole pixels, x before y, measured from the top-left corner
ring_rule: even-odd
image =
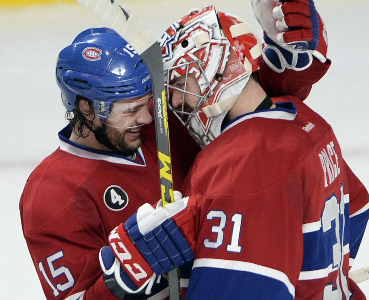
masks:
[[[189,9],[214,4],[247,20],[250,0],[127,0],[159,38]],[[333,63],[306,103],[333,127],[346,161],[369,188],[369,1],[315,0],[325,21]],[[104,26],[79,4],[0,9],[0,299],[44,299],[23,239],[18,203],[34,167],[58,147],[64,107],[55,82],[59,51],[82,30]],[[175,159],[175,157],[173,158]],[[368,230],[369,231],[369,230]],[[353,269],[369,266],[369,233]],[[369,298],[369,281],[360,283]]]

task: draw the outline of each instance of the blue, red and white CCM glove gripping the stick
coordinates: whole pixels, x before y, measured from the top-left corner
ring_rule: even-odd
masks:
[[[182,196],[177,193],[176,197]],[[192,261],[194,255],[189,244],[192,247],[195,244],[197,207],[188,203],[187,197],[165,208],[158,205],[154,209],[148,203],[142,205],[110,233],[110,248],[100,251],[104,274],[114,274],[119,286],[130,293],[140,292],[146,286],[148,293],[156,275]]]

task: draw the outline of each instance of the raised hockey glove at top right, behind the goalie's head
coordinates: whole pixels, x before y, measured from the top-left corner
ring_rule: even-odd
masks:
[[[276,72],[308,68],[313,56],[324,63],[328,40],[313,0],[252,0],[264,29],[263,58]]]

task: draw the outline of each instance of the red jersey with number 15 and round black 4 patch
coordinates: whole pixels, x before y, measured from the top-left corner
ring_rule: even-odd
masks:
[[[270,95],[292,93],[304,99],[330,61],[315,60],[297,74],[275,73],[262,60],[260,66],[257,75]],[[308,80],[296,86],[296,78]],[[171,113],[168,117],[173,185],[180,189],[199,148]],[[145,202],[160,198],[154,123],[145,129],[134,160],[74,144],[64,129],[60,148],[30,175],[20,201],[22,228],[48,300],[117,299],[104,283],[98,253],[115,226]],[[187,286],[188,280],[182,281]]]

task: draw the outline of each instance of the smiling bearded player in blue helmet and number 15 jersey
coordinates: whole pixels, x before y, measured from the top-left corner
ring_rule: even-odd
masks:
[[[314,82],[310,71],[322,76],[329,63],[314,61],[306,73],[291,76],[287,70],[270,72],[260,61],[260,77],[271,94],[293,88],[291,78],[305,78],[296,92],[304,89],[306,96]],[[20,202],[24,236],[46,298],[129,299],[129,293],[141,292],[133,297],[144,299],[143,285],[137,289],[130,280],[143,281],[150,270],[127,262],[124,272],[104,246],[112,244],[114,239],[107,237],[113,228],[120,225],[121,232],[122,222],[138,207],[160,197],[149,72],[114,31],[93,28],[60,53],[56,78],[70,124],[59,133],[60,148],[30,175]],[[169,120],[171,152],[180,157],[172,165],[179,189],[198,148],[176,121]],[[162,279],[151,281],[147,292],[165,298]]]

